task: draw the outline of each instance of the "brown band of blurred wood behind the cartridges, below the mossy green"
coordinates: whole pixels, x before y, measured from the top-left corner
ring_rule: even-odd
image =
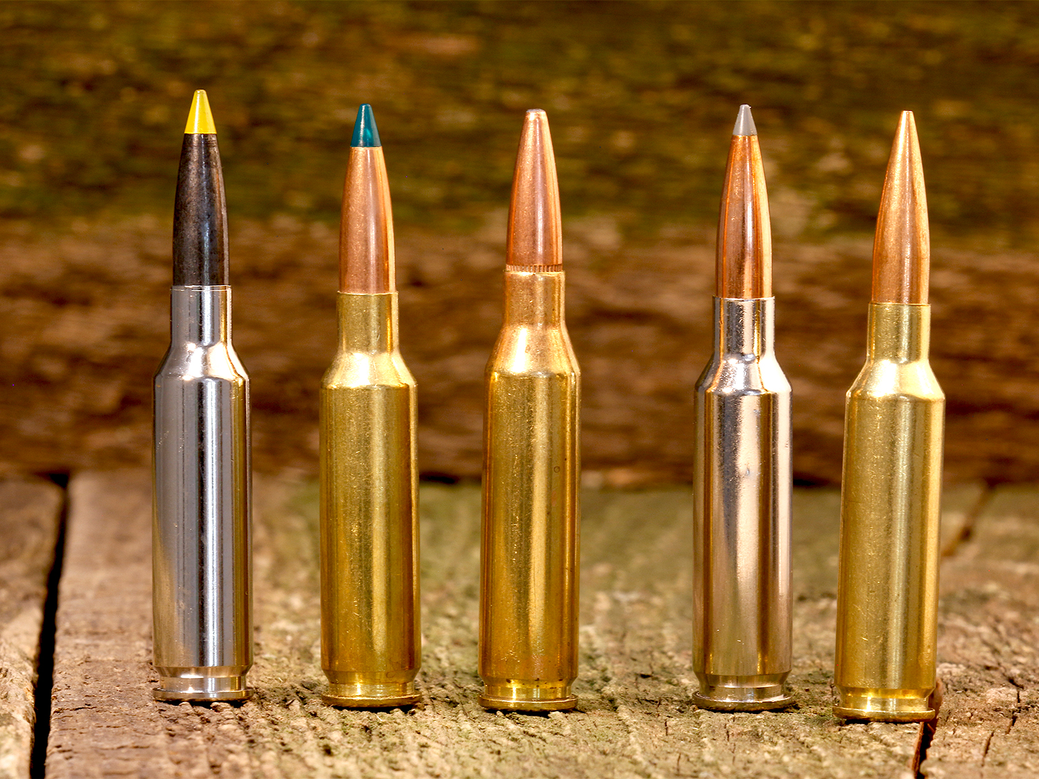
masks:
[[[778,223],[776,192],[771,206]],[[612,486],[689,481],[691,394],[711,349],[714,238],[630,244],[617,224],[577,220],[564,233],[585,469]],[[473,235],[397,232],[401,349],[419,383],[423,473],[479,475],[505,230],[503,212]],[[316,475],[317,395],[337,343],[336,232],[239,219],[231,239],[235,347],[252,378],[257,468]],[[948,397],[947,479],[1035,480],[1039,264],[1023,251],[938,248],[931,350]],[[872,245],[777,239],[773,249],[795,474],[836,484],[845,393],[865,356]],[[160,220],[55,236],[0,224],[9,312],[0,474],[146,466],[152,376],[169,343],[168,285],[169,227]]]

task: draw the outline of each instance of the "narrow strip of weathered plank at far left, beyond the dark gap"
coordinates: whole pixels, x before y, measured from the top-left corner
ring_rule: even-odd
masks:
[[[39,632],[62,501],[50,482],[0,482],[0,779],[29,775]]]

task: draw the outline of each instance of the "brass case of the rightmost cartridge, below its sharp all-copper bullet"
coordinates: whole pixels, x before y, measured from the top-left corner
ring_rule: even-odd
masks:
[[[928,720],[944,426],[930,306],[871,303],[869,328],[845,419],[834,714]]]

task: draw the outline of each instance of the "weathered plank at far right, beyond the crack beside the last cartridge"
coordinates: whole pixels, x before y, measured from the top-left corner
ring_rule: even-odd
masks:
[[[942,568],[935,779],[1039,776],[1039,489],[1001,487]]]

